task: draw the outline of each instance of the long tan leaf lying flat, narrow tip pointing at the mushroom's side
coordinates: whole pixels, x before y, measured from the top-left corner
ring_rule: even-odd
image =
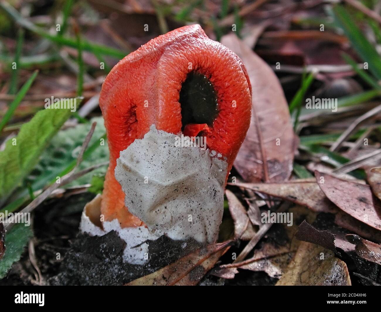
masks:
[[[261,192],[307,206],[316,212],[335,213],[337,208],[327,199],[316,182],[234,183],[234,186]]]

